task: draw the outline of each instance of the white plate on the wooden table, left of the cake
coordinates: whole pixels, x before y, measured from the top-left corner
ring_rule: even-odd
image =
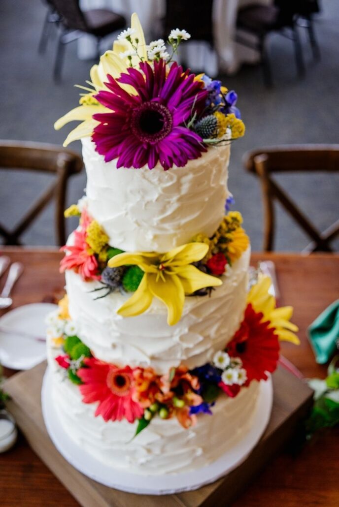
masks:
[[[56,308],[57,305],[51,303],[32,303],[19,306],[0,318],[0,328],[11,330],[8,334],[0,332],[0,363],[3,366],[29,370],[46,359],[46,343],[30,339],[20,331],[44,338],[46,316]]]

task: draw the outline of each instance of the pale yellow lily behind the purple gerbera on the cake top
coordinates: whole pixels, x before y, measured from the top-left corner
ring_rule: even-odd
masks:
[[[133,44],[136,44],[138,39],[138,55],[132,57],[132,65],[136,66],[140,62],[140,58],[145,61],[147,59],[146,43],[144,31],[139,21],[138,15],[133,13],[131,16],[131,28],[135,31],[131,37]],[[66,113],[64,116],[59,118],[54,123],[55,130],[59,130],[66,123],[72,121],[81,121],[75,129],[73,129],[63,142],[63,146],[66,147],[70,142],[81,139],[82,137],[89,137],[92,135],[94,128],[99,122],[93,120],[92,116],[96,113],[110,113],[111,111],[93,97],[98,91],[107,89],[105,82],[107,81],[107,75],[110,74],[113,78],[117,79],[119,76],[126,72],[129,62],[127,58],[120,58],[120,53],[130,49],[127,41],[115,41],[113,44],[113,50],[106,51],[103,56],[100,57],[98,65],[93,65],[90,70],[91,81],[87,82],[93,90],[90,88],[84,88],[89,93],[84,94],[80,98],[80,105]],[[128,93],[136,94],[137,92],[129,85],[120,85]]]

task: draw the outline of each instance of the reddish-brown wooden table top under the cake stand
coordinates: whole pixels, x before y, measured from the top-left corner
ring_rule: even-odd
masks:
[[[60,252],[15,247],[6,247],[3,251],[12,262],[21,261],[25,267],[14,287],[11,309],[27,303],[54,302],[62,296],[64,277],[58,271]],[[265,259],[275,262],[280,303],[294,307],[292,320],[299,326],[300,346],[283,343],[282,354],[305,377],[324,378],[326,367],[316,364],[306,329],[319,313],[339,298],[339,255],[319,253],[305,257],[289,253],[252,253],[251,263],[256,265]],[[4,280],[0,289],[3,283]],[[0,310],[0,316],[5,311]],[[5,370],[7,376],[14,373]],[[319,434],[297,452],[293,448],[284,449],[233,503],[234,507],[299,507],[300,504],[337,507],[338,437],[339,430],[332,429]],[[22,436],[13,449],[0,454],[0,492],[2,507],[78,505]]]

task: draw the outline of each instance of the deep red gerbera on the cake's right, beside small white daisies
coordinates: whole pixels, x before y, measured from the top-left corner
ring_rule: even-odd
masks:
[[[247,371],[249,385],[252,380],[266,380],[266,372],[274,372],[279,359],[279,339],[270,322],[261,322],[263,314],[247,305],[244,320],[234,338],[227,344],[231,357],[240,357]]]

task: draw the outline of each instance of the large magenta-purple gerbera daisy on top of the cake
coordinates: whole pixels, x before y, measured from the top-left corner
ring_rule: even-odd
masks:
[[[175,164],[201,156],[207,149],[202,138],[189,130],[186,123],[205,107],[207,91],[194,74],[173,63],[166,74],[164,60],[140,63],[140,69],[128,68],[118,79],[107,76],[108,90],[95,98],[112,113],[93,115],[99,122],[92,140],[105,161],[117,160],[117,167],[150,169],[159,161],[167,170]],[[136,95],[121,85],[131,86]]]

